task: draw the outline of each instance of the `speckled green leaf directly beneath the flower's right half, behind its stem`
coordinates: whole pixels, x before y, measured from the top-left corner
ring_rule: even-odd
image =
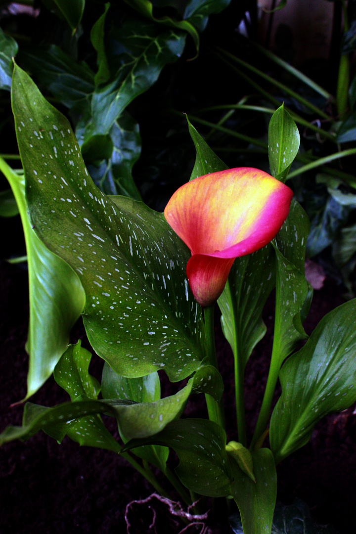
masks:
[[[275,263],[271,245],[236,258],[218,299],[224,335],[235,357],[242,358],[243,367],[266,333],[262,312],[275,287]]]

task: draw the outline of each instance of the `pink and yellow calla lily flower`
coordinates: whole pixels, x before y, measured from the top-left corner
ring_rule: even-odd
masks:
[[[266,172],[228,169],[182,185],[164,210],[192,253],[187,278],[203,308],[224,290],[236,257],[269,243],[289,213],[293,193]]]

